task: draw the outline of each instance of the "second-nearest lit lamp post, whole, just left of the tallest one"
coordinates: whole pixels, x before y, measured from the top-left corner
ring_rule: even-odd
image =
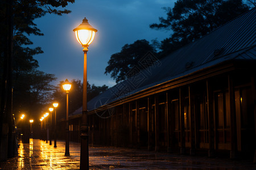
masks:
[[[65,142],[65,156],[69,156],[69,126],[68,126],[68,93],[69,90],[71,89],[71,83],[69,83],[68,79],[65,80],[63,83],[63,89],[65,90],[67,94],[67,114],[66,114],[66,142]]]

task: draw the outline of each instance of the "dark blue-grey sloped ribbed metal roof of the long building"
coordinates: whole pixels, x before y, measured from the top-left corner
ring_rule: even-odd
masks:
[[[222,25],[201,39],[185,45],[160,61],[144,56],[153,65],[126,79],[88,102],[88,110],[108,105],[123,97],[180,76],[194,73],[218,63],[236,60],[256,60],[256,8]],[[136,69],[136,68],[135,68]]]

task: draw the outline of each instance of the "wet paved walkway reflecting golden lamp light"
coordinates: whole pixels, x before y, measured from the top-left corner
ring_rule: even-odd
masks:
[[[39,139],[20,143],[18,156],[0,163],[0,169],[79,169],[80,143],[70,142],[71,156],[64,156],[65,141],[57,148]],[[90,169],[256,169],[249,160],[167,154],[117,147],[89,147]]]

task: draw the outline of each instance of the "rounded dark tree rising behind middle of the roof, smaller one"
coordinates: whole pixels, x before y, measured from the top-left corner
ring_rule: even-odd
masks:
[[[120,82],[127,78],[127,73],[131,68],[137,65],[147,52],[155,53],[153,45],[147,40],[137,40],[133,44],[125,44],[121,52],[112,54],[105,68],[105,74]]]

